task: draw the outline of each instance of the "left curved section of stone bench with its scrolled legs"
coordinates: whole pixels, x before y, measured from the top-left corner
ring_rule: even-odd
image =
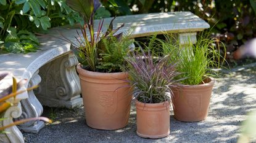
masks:
[[[29,82],[25,85],[26,88],[40,85],[38,89],[18,96],[19,99],[22,99],[20,101],[21,106],[10,108],[12,112],[6,112],[6,115],[4,115],[4,117],[9,117],[10,120],[12,118],[19,120],[21,118],[39,117],[43,113],[41,103],[50,107],[68,108],[83,104],[80,96],[80,83],[75,70],[78,61],[70,51],[70,44],[60,39],[59,41],[58,39],[52,39],[49,36],[41,36],[39,40],[42,43],[35,53],[0,55],[0,71],[12,73],[17,81],[28,79]],[[1,88],[3,89],[12,84],[12,79],[5,78],[1,82]],[[19,115],[13,114],[14,112],[19,113]],[[43,126],[44,122],[41,121],[27,122],[20,125],[19,129],[38,133]],[[10,132],[10,134],[7,134],[10,142],[23,142],[23,136],[19,133],[19,129],[15,126],[7,129]]]

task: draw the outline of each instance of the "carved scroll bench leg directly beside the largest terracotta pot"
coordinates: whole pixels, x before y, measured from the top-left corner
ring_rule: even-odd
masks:
[[[78,60],[70,52],[39,69],[42,81],[35,93],[43,105],[67,108],[83,105],[76,64]]]

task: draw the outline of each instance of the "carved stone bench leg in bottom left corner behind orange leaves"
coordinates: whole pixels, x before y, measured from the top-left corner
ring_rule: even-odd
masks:
[[[4,112],[3,118],[6,118],[6,120],[2,120],[0,123],[0,126],[6,126],[10,123],[13,123],[13,118],[18,118],[22,115],[22,107],[19,102],[17,106],[9,107],[9,109]],[[4,131],[7,132],[7,134],[0,134],[0,142],[3,143],[23,143],[23,135],[20,132],[20,130],[17,128],[17,126],[12,126],[10,128],[6,128]]]

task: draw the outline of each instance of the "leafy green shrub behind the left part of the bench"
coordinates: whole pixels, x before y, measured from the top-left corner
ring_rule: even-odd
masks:
[[[31,32],[80,19],[62,0],[0,0],[0,52],[35,52],[39,41]]]

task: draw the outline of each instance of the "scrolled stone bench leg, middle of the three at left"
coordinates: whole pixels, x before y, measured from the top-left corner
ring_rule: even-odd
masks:
[[[41,82],[41,77],[38,75],[39,71],[36,71],[35,74],[30,79],[30,82],[28,83],[28,87],[33,87],[35,85],[38,85]],[[28,98],[23,99],[21,101],[22,103],[22,115],[18,120],[22,118],[33,118],[33,117],[39,117],[41,114],[43,114],[43,106],[36,98],[34,91],[28,91]],[[19,129],[22,129],[25,132],[30,133],[38,133],[38,131],[43,128],[44,122],[42,121],[31,121],[24,123],[22,125],[19,125]]]

